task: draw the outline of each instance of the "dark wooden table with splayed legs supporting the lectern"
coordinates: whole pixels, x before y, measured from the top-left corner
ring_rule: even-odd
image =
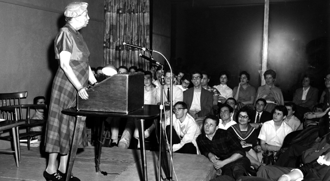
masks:
[[[75,154],[77,153],[79,140],[81,139],[83,128],[85,126],[86,116],[97,116],[97,117],[122,117],[122,118],[135,118],[139,119],[139,138],[140,138],[140,148],[141,148],[141,160],[142,160],[142,171],[144,180],[147,178],[147,164],[146,164],[146,153],[145,153],[145,143],[144,143],[144,119],[154,119],[160,116],[159,106],[156,105],[144,105],[143,108],[132,111],[128,114],[126,113],[114,113],[114,112],[97,112],[97,111],[77,111],[75,108],[69,108],[62,111],[63,114],[75,116],[74,132],[72,137],[72,143],[69,152],[69,165],[66,173],[71,173],[73,168],[73,163],[75,159]],[[100,132],[102,134],[103,132]],[[101,135],[102,136],[102,135]],[[99,169],[99,163],[101,158],[101,147],[102,144],[98,143],[98,154],[96,160],[96,172]],[[70,174],[66,175],[66,180],[68,181]]]

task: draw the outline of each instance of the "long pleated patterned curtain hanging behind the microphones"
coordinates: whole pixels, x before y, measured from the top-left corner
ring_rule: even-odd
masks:
[[[104,65],[149,69],[142,50],[123,42],[150,47],[149,0],[105,0]]]

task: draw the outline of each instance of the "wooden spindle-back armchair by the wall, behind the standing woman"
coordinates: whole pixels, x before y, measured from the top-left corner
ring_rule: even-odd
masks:
[[[17,120],[24,121],[25,123],[21,127],[26,128],[26,133],[20,133],[19,138],[27,138],[28,140],[28,149],[30,150],[30,138],[42,135],[42,132],[31,132],[30,128],[38,125],[44,125],[46,120],[40,119],[31,119],[30,110],[31,108],[35,109],[45,109],[46,105],[21,105],[21,98],[26,98],[28,92],[14,92],[14,93],[0,93],[0,107],[9,107],[16,109],[15,116]],[[22,109],[27,110],[26,116],[23,116]],[[5,112],[4,112],[5,113]],[[2,137],[1,139],[12,139],[12,136]]]

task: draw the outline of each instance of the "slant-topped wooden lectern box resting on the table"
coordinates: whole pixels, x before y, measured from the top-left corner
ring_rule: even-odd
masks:
[[[115,74],[77,97],[77,110],[129,113],[143,107],[144,73]]]

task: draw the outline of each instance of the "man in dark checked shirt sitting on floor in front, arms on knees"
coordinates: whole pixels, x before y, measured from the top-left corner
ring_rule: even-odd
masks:
[[[204,120],[202,133],[197,137],[201,153],[213,163],[222,175],[212,180],[239,180],[250,167],[240,141],[237,137],[217,126],[219,119],[209,115]]]

